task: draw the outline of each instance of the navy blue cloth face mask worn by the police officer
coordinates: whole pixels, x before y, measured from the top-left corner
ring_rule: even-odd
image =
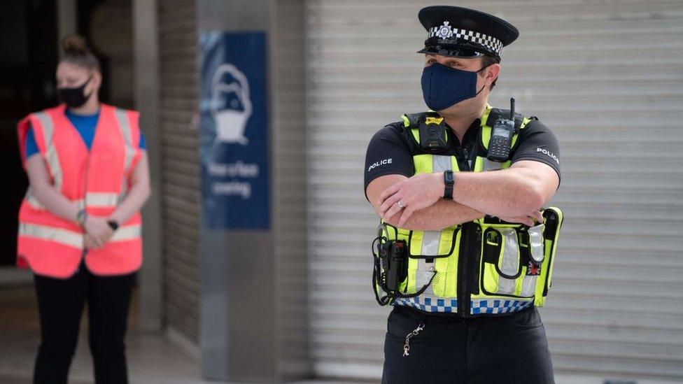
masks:
[[[443,111],[460,101],[476,97],[484,90],[481,87],[477,92],[479,71],[461,71],[439,63],[425,66],[422,71],[422,95],[425,104],[432,111]]]

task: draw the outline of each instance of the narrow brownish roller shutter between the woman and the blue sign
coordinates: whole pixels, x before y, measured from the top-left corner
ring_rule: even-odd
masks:
[[[197,16],[193,0],[160,0],[160,124],[167,326],[198,343]]]

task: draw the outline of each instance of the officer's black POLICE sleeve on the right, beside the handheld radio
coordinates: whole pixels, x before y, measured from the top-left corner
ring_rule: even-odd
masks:
[[[548,164],[560,173],[560,145],[548,127],[540,121],[530,122],[519,134],[519,144],[512,154],[512,163],[519,160],[535,160]],[[559,187],[559,185],[558,185]]]

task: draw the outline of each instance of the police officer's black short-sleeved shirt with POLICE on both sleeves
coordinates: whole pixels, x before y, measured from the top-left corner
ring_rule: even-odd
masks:
[[[449,148],[443,155],[458,158],[461,171],[469,170],[474,164],[467,164],[465,156],[472,154],[472,146],[479,145],[477,138],[481,130],[479,119],[474,120],[465,132],[462,145],[453,131],[449,129]],[[365,190],[367,185],[384,175],[413,176],[415,167],[411,155],[411,141],[402,134],[402,123],[395,123],[377,131],[367,145],[365,155]],[[481,152],[480,152],[481,153]],[[512,163],[519,160],[535,160],[551,166],[560,177],[560,148],[553,132],[538,120],[532,120],[519,131],[516,148],[510,154]],[[559,186],[558,186],[559,187]],[[365,194],[367,199],[367,192]]]

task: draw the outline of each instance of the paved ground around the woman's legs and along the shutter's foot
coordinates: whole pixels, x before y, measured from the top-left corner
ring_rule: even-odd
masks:
[[[132,308],[136,306],[133,305]],[[160,333],[141,332],[129,323],[127,355],[132,384],[199,384],[216,381],[199,379],[199,364],[188,353]],[[87,322],[83,316],[76,357],[69,383],[92,383],[90,352],[87,349]],[[32,285],[0,287],[0,383],[31,383],[31,371],[40,332]],[[558,384],[604,384],[600,377],[558,375]],[[304,382],[300,382],[303,384]],[[306,381],[305,384],[340,384],[342,381]],[[353,382],[359,384],[359,382]],[[619,383],[616,382],[615,383]],[[623,383],[633,383],[624,381]],[[664,384],[664,381],[638,381],[637,384]],[[236,384],[236,383],[234,383]],[[295,383],[293,383],[295,384]]]

